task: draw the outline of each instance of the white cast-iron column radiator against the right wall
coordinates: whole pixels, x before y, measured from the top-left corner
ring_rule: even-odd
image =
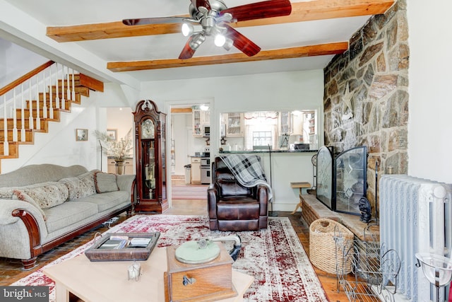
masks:
[[[436,288],[416,266],[415,253],[451,256],[452,185],[408,175],[382,175],[379,195],[381,246],[400,256],[400,301],[436,301]],[[447,297],[447,290],[441,289],[440,301]]]

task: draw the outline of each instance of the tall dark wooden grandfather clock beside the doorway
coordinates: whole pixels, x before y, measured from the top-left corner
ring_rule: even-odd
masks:
[[[152,100],[141,100],[133,112],[137,212],[162,213],[168,209],[165,117]]]

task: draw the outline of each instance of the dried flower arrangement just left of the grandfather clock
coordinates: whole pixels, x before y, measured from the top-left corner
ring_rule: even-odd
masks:
[[[106,132],[94,131],[95,137],[99,139],[103,151],[107,156],[113,156],[115,161],[124,161],[127,156],[131,156],[132,152],[132,129],[127,132],[125,137],[118,141],[112,141]]]

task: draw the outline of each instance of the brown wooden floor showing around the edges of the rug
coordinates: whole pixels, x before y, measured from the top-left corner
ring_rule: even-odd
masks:
[[[173,214],[173,215],[207,215],[207,202],[204,200],[182,200],[176,199],[172,200],[172,208],[169,209],[165,214]],[[301,220],[301,213],[297,212],[295,214],[290,214],[290,212],[275,212],[273,213],[276,216],[285,216],[289,217],[293,228],[297,232],[298,238],[301,241],[304,250],[309,255],[309,228]],[[114,224],[120,223],[124,221],[128,217],[123,214],[119,216],[118,221],[114,222]],[[84,233],[82,236],[78,236],[73,240],[69,240],[67,243],[60,245],[49,252],[44,253],[37,259],[38,267],[34,269],[24,272],[21,267],[21,263],[18,260],[11,260],[6,258],[0,258],[0,286],[9,285],[18,279],[25,277],[30,272],[33,272],[36,269],[39,269],[43,265],[56,260],[58,257],[66,254],[70,250],[87,243],[91,240],[96,232],[103,232],[108,229],[107,225],[101,225],[97,228],[94,228],[87,233]],[[334,256],[333,256],[334,257]],[[322,272],[319,269],[316,269],[316,274],[318,275],[323,289],[325,289],[326,294],[330,302],[346,302],[348,301],[347,296],[343,291],[338,293],[336,291],[336,277],[335,274],[328,274],[326,272]]]

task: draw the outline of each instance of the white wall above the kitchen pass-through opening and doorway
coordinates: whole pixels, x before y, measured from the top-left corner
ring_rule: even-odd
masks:
[[[141,87],[141,98],[154,100],[160,110],[165,108],[165,103],[210,100],[210,153],[212,154],[220,147],[221,112],[317,109],[321,117],[318,123],[323,125],[322,70],[149,81],[142,83]],[[321,134],[319,144],[323,144],[323,127],[319,134]]]

